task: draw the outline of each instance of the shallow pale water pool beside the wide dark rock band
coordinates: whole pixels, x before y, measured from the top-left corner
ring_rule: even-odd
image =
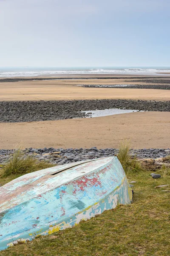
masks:
[[[134,109],[119,109],[119,108],[109,108],[109,109],[97,109],[97,110],[88,110],[88,111],[81,111],[81,113],[85,112],[92,113],[89,114],[88,117],[99,117],[99,116],[111,116],[111,115],[117,115],[117,114],[124,114],[124,113],[132,113],[132,112],[139,112],[139,110]],[[143,112],[143,111],[140,111]]]

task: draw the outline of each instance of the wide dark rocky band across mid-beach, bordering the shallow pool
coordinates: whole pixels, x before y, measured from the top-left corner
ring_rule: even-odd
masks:
[[[139,111],[170,111],[170,101],[127,99],[3,101],[0,102],[0,122],[36,122],[86,117],[85,112],[109,108]]]

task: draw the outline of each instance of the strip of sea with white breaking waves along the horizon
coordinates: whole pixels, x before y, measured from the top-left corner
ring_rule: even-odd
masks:
[[[31,71],[28,71],[31,70]],[[122,68],[122,69],[71,69],[59,70],[59,68],[0,68],[0,78],[5,77],[36,77],[36,76],[67,76],[82,74],[111,74],[111,75],[166,75],[161,73],[170,73],[170,69],[152,69],[152,68]],[[168,75],[168,74],[167,74]]]

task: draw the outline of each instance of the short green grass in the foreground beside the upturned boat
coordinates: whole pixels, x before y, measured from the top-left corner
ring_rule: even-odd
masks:
[[[169,256],[170,193],[155,186],[170,184],[170,176],[155,180],[150,172],[140,171],[128,172],[127,177],[137,181],[133,204],[105,211],[71,229],[18,244],[0,255]]]

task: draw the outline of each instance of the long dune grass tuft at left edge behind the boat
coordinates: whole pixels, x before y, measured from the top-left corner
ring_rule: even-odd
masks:
[[[9,175],[24,175],[41,169],[52,167],[51,163],[39,161],[37,158],[29,156],[21,148],[14,149],[13,154],[0,169],[0,177]]]

